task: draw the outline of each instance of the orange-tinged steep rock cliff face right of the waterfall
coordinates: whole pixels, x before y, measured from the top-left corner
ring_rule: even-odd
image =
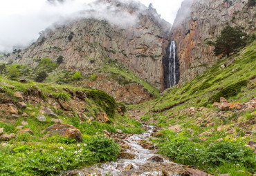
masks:
[[[248,8],[246,0],[185,0],[172,27],[172,40],[178,47],[181,80],[185,84],[216,63],[215,41],[226,26],[239,26],[244,32],[255,31],[255,8]]]

